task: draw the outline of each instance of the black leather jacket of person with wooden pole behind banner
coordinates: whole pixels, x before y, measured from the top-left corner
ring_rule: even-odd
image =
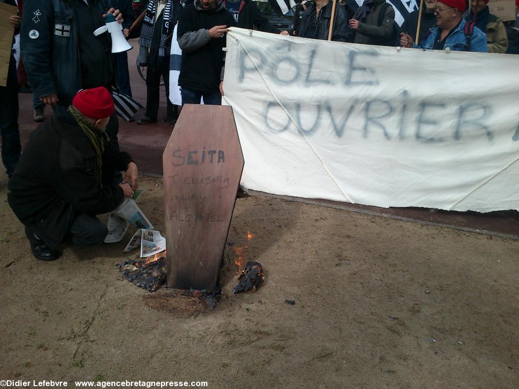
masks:
[[[303,17],[299,21],[297,26],[297,36],[304,37],[308,23],[310,22],[310,16],[315,9],[315,3],[309,3],[308,8],[303,13]],[[332,20],[332,0],[328,2],[328,5],[323,10],[321,16],[321,22],[319,23],[318,39],[327,40],[328,33],[330,31],[330,20]],[[335,8],[335,18],[333,23],[332,40],[338,42],[347,42],[350,35],[350,27],[348,25],[348,16],[344,7],[337,5]]]

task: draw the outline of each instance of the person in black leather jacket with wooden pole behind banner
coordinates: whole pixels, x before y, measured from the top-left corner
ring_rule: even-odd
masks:
[[[310,3],[299,21],[297,36],[313,39],[328,39],[332,19],[332,0],[317,0]],[[344,7],[337,5],[333,24],[332,40],[348,41],[350,29]]]

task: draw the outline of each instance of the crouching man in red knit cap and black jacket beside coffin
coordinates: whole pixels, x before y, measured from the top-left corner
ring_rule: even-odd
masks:
[[[7,199],[37,259],[59,258],[65,239],[77,246],[103,243],[107,228],[95,215],[113,211],[137,188],[137,166],[105,133],[113,113],[110,92],[86,89],[31,133]],[[115,174],[123,170],[117,185]]]

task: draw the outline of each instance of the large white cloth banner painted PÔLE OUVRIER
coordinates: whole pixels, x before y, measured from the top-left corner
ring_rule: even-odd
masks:
[[[227,34],[242,185],[382,207],[519,210],[517,55]]]

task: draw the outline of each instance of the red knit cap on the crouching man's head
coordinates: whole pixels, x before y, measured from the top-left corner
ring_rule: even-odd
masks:
[[[104,87],[83,89],[76,93],[72,105],[77,110],[92,119],[104,119],[114,113],[114,100]]]

